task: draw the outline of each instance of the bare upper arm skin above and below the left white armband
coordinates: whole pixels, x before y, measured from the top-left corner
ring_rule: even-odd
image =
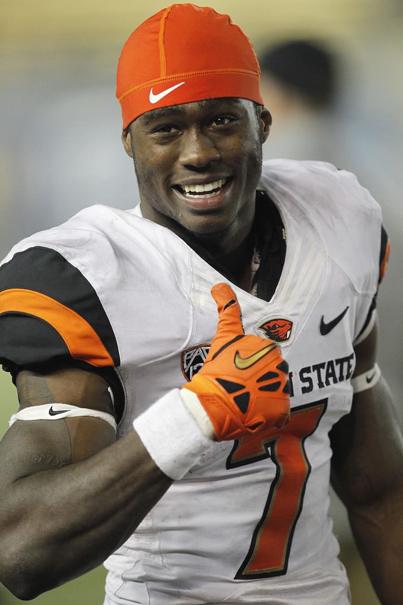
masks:
[[[114,414],[108,383],[83,370],[51,374],[21,371],[17,379],[20,410],[44,409],[54,403]],[[43,406],[44,408],[39,408]],[[44,412],[40,414],[44,416]],[[93,456],[115,440],[114,428],[99,417],[48,416],[16,420],[0,443],[1,485]]]

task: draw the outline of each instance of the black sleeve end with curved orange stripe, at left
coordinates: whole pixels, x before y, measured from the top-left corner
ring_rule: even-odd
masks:
[[[100,269],[102,270],[102,269]],[[94,287],[59,252],[33,247],[0,267],[0,359],[17,367],[62,362],[120,365]]]

